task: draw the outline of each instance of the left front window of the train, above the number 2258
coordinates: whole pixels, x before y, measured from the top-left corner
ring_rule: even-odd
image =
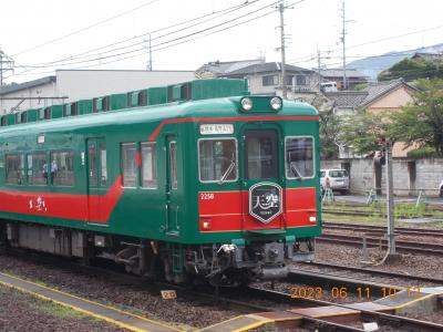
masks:
[[[233,138],[200,139],[199,178],[203,183],[237,180],[237,148]]]

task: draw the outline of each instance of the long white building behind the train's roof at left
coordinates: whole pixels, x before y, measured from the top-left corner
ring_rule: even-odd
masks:
[[[194,79],[193,71],[58,70],[55,76],[3,86],[0,90],[0,114]]]

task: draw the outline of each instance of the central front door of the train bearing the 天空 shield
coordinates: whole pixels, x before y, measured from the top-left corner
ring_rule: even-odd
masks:
[[[277,128],[243,132],[243,229],[281,228],[282,175]]]

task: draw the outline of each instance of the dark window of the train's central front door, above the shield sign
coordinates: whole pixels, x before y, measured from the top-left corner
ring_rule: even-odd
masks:
[[[278,178],[276,131],[245,132],[245,176],[247,179]]]

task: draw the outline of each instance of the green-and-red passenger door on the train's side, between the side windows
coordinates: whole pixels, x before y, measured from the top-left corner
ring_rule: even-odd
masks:
[[[87,138],[87,215],[101,220],[102,199],[107,188],[106,144],[103,137]]]

